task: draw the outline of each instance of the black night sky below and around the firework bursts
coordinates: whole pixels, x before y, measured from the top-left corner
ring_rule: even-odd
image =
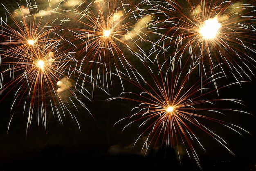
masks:
[[[0,2],[9,11],[17,9],[18,4],[26,6],[26,2],[23,0],[1,0]],[[36,4],[39,9],[45,9],[48,2],[47,0],[36,0]],[[59,8],[64,8],[62,5]],[[65,8],[68,9],[68,7]],[[2,5],[0,12],[1,17],[4,18],[6,10]],[[43,21],[47,21],[52,16],[45,16]],[[61,18],[63,16],[55,14],[54,17]],[[13,23],[10,20],[8,24],[11,26]],[[61,27],[70,27],[70,24],[64,23]],[[156,40],[158,37],[151,38]],[[255,42],[253,43],[255,44]],[[146,45],[143,45],[142,42],[141,44],[146,51],[149,43],[145,42]],[[74,46],[69,46],[65,48],[74,49]],[[130,54],[125,49],[124,53]],[[130,56],[134,56],[134,54],[130,54]],[[255,58],[256,54],[252,53],[251,56]],[[143,71],[139,58],[133,58],[131,61],[134,68]],[[256,63],[252,65],[256,66]],[[256,68],[252,67],[252,71],[255,73]],[[229,78],[229,73],[227,73],[227,78]],[[225,139],[235,156],[215,140],[208,136],[199,135],[198,138],[200,138],[206,150],[204,152],[198,148],[203,170],[256,171],[256,78],[252,76],[251,79],[251,81],[243,82],[242,86],[235,84],[220,90],[220,98],[235,98],[244,102],[245,106],[234,106],[234,108],[252,115],[230,112],[227,113],[227,120],[249,131],[250,134],[243,132],[243,135],[238,135],[229,129],[214,127],[214,131]],[[224,81],[220,82],[220,85],[225,84]],[[133,85],[124,81],[125,83],[132,89]],[[85,85],[85,89],[91,89],[90,83]],[[137,91],[136,87],[134,89]],[[81,97],[92,115],[85,109],[79,108],[79,113],[77,112],[75,115],[80,129],[69,115],[63,119],[63,124],[60,124],[57,118],[49,116],[47,118],[47,133],[42,125],[38,126],[36,119],[31,122],[29,131],[26,131],[27,116],[20,112],[22,111],[22,104],[21,107],[16,107],[17,110],[13,115],[7,133],[8,124],[13,114],[10,109],[15,91],[8,94],[1,93],[0,98],[4,97],[4,100],[0,102],[0,170],[87,170],[90,168],[200,170],[194,160],[190,160],[186,156],[182,158],[182,164],[180,165],[176,158],[175,149],[171,147],[155,147],[149,149],[145,155],[141,152],[142,140],[133,146],[140,135],[138,124],[122,131],[128,122],[123,121],[116,125],[115,123],[129,116],[130,110],[136,107],[137,103],[122,100],[107,101],[110,97],[118,97],[121,92],[122,87],[119,79],[113,76],[112,88],[110,88],[109,94],[100,88],[95,88],[93,101]],[[230,104],[227,106],[227,108],[232,107]],[[211,123],[209,122],[209,124]]]

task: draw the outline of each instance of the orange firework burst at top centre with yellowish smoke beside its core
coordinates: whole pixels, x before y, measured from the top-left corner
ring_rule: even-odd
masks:
[[[151,18],[142,16],[132,3],[93,1],[64,12],[76,15],[69,18],[75,27],[68,28],[72,36],[66,40],[78,50],[81,71],[92,74],[104,87],[106,84],[107,89],[108,83],[112,84],[110,73],[121,68],[125,71],[137,59],[146,59],[139,45]]]

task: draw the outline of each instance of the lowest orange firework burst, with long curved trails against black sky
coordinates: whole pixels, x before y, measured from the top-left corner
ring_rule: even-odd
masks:
[[[211,136],[231,152],[227,142],[213,131],[210,125],[218,124],[218,127],[228,128],[239,134],[240,131],[245,131],[237,125],[226,122],[223,116],[229,112],[247,112],[236,109],[221,109],[220,107],[221,103],[243,104],[242,101],[220,99],[217,96],[213,98],[213,94],[217,95],[216,89],[212,87],[213,90],[211,90],[210,87],[207,87],[213,80],[205,79],[201,82],[200,79],[192,79],[195,78],[191,76],[193,69],[189,72],[181,69],[177,73],[164,73],[160,67],[153,69],[146,66],[143,71],[137,72],[137,78],[134,80],[125,79],[135,85],[132,91],[122,93],[119,98],[110,99],[128,100],[139,104],[132,109],[131,116],[117,122],[124,122],[126,119],[132,120],[124,129],[132,124],[140,123],[139,128],[142,129],[142,133],[135,144],[139,140],[145,140],[142,150],[146,149],[146,151],[159,146],[175,147],[179,159],[181,159],[184,148],[187,155],[193,158],[199,167],[200,157],[196,147],[199,145],[204,150],[203,143],[200,141],[202,132]],[[159,75],[155,74],[157,72]],[[222,76],[217,76],[217,74],[219,73],[214,76],[215,81],[222,79]],[[209,124],[210,122],[211,124]]]

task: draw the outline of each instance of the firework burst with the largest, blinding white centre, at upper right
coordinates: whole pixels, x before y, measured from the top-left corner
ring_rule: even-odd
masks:
[[[155,33],[161,33],[162,38],[156,44],[171,69],[175,69],[175,62],[189,60],[191,68],[198,66],[200,76],[209,73],[207,77],[212,77],[219,71],[236,80],[254,76],[254,1],[146,2],[152,7],[148,11],[157,16]]]

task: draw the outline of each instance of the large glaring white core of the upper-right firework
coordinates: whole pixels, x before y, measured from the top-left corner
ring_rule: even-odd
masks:
[[[200,27],[199,32],[205,39],[215,38],[218,30],[220,29],[221,24],[218,22],[217,18],[210,18],[205,20],[202,27]]]

